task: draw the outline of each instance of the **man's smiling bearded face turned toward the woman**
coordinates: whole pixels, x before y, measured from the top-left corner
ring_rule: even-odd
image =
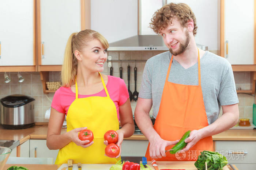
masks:
[[[182,54],[187,49],[190,41],[188,30],[181,26],[176,17],[173,18],[172,23],[161,30],[160,34],[166,47],[174,56]]]

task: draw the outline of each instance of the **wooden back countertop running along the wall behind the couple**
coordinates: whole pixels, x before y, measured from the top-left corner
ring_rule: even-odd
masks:
[[[29,139],[46,139],[47,125],[36,125],[27,129],[9,130],[0,126],[0,140],[19,140],[20,144]],[[65,133],[67,128],[62,128]],[[213,135],[214,141],[256,141],[256,129],[254,130],[227,130]],[[125,140],[147,140],[144,135],[132,135]]]

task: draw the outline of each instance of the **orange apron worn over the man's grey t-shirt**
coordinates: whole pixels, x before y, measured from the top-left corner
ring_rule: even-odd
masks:
[[[188,130],[199,130],[208,126],[207,115],[204,107],[203,93],[200,76],[200,56],[198,50],[198,86],[184,85],[168,82],[172,59],[166,75],[163,94],[155,120],[154,129],[160,137],[167,141],[176,141]],[[149,154],[149,145],[146,151],[148,161],[152,158]],[[174,145],[167,146],[166,150]],[[212,137],[201,139],[190,150],[181,150],[176,154],[166,152],[166,157],[156,161],[196,161],[203,150],[213,151]]]

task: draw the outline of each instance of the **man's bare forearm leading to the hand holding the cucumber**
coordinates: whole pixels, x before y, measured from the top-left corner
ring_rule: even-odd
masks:
[[[200,129],[199,131],[202,132],[202,138],[219,134],[233,127],[237,123],[237,120],[238,118],[236,114],[227,112],[215,120],[214,123]]]

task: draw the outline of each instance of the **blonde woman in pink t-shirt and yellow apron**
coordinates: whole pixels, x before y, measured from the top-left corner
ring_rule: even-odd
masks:
[[[61,71],[63,87],[54,94],[46,145],[60,149],[55,164],[116,163],[105,156],[104,134],[116,130],[117,146],[134,132],[129,94],[123,79],[100,74],[107,59],[108,41],[91,29],[72,33],[68,39]],[[67,115],[67,132],[61,133]],[[118,119],[120,118],[121,129]],[[94,140],[81,141],[79,131],[93,131]]]

